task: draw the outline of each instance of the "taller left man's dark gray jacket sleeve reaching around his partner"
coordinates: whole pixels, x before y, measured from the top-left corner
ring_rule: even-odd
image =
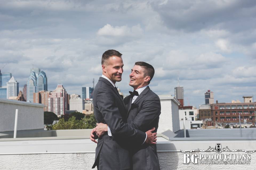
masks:
[[[99,111],[102,113],[103,119],[112,133],[138,144],[142,144],[145,141],[146,134],[144,132],[134,129],[123,122],[119,109],[115,104],[116,98],[108,88],[100,87],[96,100]]]

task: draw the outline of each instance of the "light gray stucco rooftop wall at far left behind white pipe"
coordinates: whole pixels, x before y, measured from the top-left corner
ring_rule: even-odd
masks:
[[[43,129],[43,105],[21,101],[0,100],[0,132],[13,131],[18,109],[17,130]]]

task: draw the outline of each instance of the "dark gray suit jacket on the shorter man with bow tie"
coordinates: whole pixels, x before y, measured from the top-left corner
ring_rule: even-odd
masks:
[[[137,99],[131,103],[133,96],[125,97],[127,122],[130,126],[143,132],[155,127],[157,132],[161,113],[160,99],[157,94],[146,87]],[[143,144],[130,149],[134,170],[160,170],[156,145]]]

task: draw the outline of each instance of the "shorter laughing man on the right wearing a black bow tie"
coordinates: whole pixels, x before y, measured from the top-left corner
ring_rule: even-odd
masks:
[[[124,99],[128,124],[144,132],[153,127],[153,132],[157,132],[161,113],[160,99],[148,86],[153,76],[153,66],[145,62],[136,62],[131,69],[129,82],[134,91]],[[98,128],[104,126],[106,125],[98,124]],[[100,134],[106,131],[105,127]],[[113,136],[115,137],[115,134]],[[130,147],[130,155],[134,170],[160,170],[156,145],[133,145]]]

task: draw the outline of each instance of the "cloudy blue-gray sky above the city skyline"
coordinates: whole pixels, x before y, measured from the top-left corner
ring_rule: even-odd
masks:
[[[255,95],[256,1],[0,1],[0,68],[20,90],[30,68],[46,72],[48,90],[62,83],[81,94],[101,76],[101,55],[123,54],[117,86],[126,95],[136,61],[155,68],[150,88],[174,95],[179,76],[185,105]]]

